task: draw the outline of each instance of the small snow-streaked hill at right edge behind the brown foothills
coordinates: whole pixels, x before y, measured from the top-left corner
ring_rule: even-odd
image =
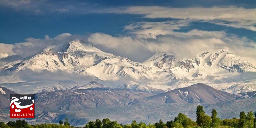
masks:
[[[234,84],[229,88],[223,89],[222,91],[226,91],[232,94],[238,93],[246,93],[250,91],[256,91],[256,83],[244,83],[244,84]]]

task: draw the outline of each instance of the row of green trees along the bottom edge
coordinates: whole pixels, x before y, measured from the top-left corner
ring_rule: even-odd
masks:
[[[196,121],[191,120],[185,114],[179,113],[174,120],[164,123],[162,120],[155,124],[137,123],[135,120],[129,125],[122,125],[116,121],[96,119],[90,121],[83,128],[256,128],[256,113],[253,111],[240,112],[239,119],[224,119],[217,117],[218,113],[215,109],[212,110],[211,116],[205,114],[203,106],[197,106]],[[255,116],[255,117],[254,117]],[[59,121],[58,124],[36,124],[29,125],[24,120],[17,120],[8,123],[0,122],[0,128],[75,128],[70,126],[68,118]]]

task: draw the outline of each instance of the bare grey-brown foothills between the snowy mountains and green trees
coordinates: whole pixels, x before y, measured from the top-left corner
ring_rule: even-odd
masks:
[[[88,86],[91,88],[87,88]],[[0,119],[7,121],[9,94],[15,92],[0,88]],[[105,87],[92,81],[72,89],[36,93],[36,118],[28,121],[32,124],[58,123],[68,117],[71,125],[75,126],[84,126],[89,120],[96,118],[110,118],[123,124],[130,123],[131,120],[152,123],[159,119],[170,120],[180,112],[195,119],[197,105],[203,105],[208,114],[212,109],[216,109],[218,116],[225,119],[238,117],[240,111],[255,111],[255,94],[256,91],[230,94],[203,83],[153,94],[147,91]]]

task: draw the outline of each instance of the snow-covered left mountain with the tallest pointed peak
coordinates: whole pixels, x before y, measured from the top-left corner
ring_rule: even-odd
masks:
[[[16,72],[22,71],[26,73],[27,69],[32,70],[33,72],[62,71],[63,73],[76,73],[88,79],[91,77],[92,80],[98,78],[105,81],[118,81],[122,77],[122,79],[136,80],[152,78],[148,72],[151,70],[151,67],[144,66],[138,62],[133,62],[124,57],[102,52],[89,43],[85,43],[79,40],[74,40],[64,45],[57,44],[47,46],[36,55],[1,66],[0,73],[9,75],[10,72],[14,72],[11,74],[13,75],[18,74]],[[19,79],[19,76],[13,77],[15,79]],[[70,87],[63,87],[62,85],[66,85],[65,82],[59,83],[57,82],[58,80],[56,80],[56,84],[52,84],[53,86],[46,87],[44,83],[40,81],[21,80],[20,82],[25,82],[29,85],[30,83],[41,83],[42,85],[35,87],[39,89],[38,91],[56,89],[62,90],[69,89]],[[49,80],[46,79],[45,81]],[[10,81],[4,83],[9,84]],[[12,85],[14,84],[15,83]],[[23,84],[20,85],[20,83],[16,84],[17,87],[23,86]],[[15,88],[15,90],[18,90],[18,88]]]

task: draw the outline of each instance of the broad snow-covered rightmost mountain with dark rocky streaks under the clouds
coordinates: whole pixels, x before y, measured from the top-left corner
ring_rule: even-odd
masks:
[[[188,84],[204,82],[223,89],[233,85],[233,82],[243,83],[245,80],[251,80],[251,76],[243,77],[242,80],[240,74],[256,72],[256,67],[229,50],[222,49],[217,52],[207,51],[193,59],[179,61],[178,66],[170,71],[175,74],[175,79]],[[170,81],[173,82],[175,81]]]

